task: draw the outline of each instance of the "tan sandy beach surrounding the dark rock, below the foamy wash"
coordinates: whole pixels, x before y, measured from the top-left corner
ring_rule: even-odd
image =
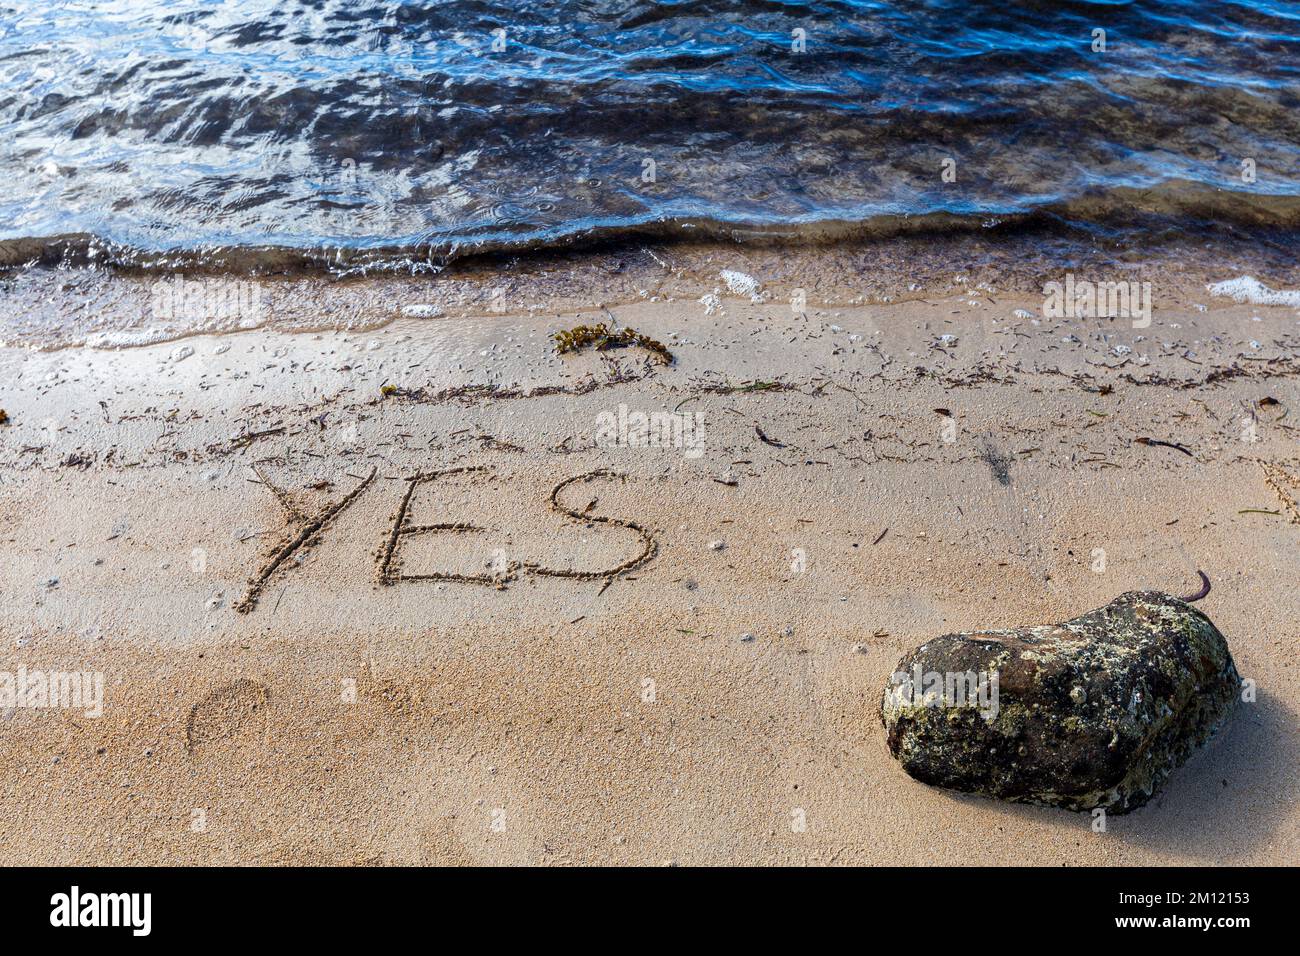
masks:
[[[1295,862],[1300,313],[1166,287],[1145,329],[724,289],[4,349],[0,671],[104,698],[0,713],[0,861]],[[554,354],[611,316],[676,360]],[[637,412],[676,446],[610,445]],[[889,757],[927,636],[1197,568],[1258,696],[1145,808]]]

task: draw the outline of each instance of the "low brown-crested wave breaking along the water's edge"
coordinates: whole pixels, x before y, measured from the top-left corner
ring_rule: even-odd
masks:
[[[723,211],[718,211],[722,213]],[[339,278],[382,274],[438,274],[451,264],[546,251],[592,251],[637,243],[740,243],[818,246],[924,235],[1044,235],[1153,248],[1209,234],[1295,248],[1300,245],[1300,196],[1244,194],[1199,183],[1170,182],[1134,190],[1096,190],[1060,203],[1024,209],[871,213],[842,211],[792,220],[744,217],[658,217],[575,221],[563,228],[517,230],[430,241],[428,237],[361,246],[192,246],[136,247],[94,234],[0,239],[0,269],[107,267],[144,274],[174,272],[292,274]]]

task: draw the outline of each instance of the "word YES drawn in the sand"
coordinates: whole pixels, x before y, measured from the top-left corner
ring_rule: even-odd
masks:
[[[468,523],[436,523],[436,524],[413,524],[411,522],[411,501],[416,492],[422,485],[436,485],[438,481],[458,475],[488,475],[489,468],[485,467],[463,467],[463,468],[447,468],[443,471],[420,472],[406,479],[406,490],[402,496],[402,502],[398,506],[398,511],[393,518],[391,527],[387,528],[384,542],[377,553],[377,566],[378,566],[378,580],[381,584],[402,584],[406,581],[460,581],[465,584],[485,584],[494,588],[504,588],[508,581],[512,581],[521,575],[533,574],[543,578],[571,578],[576,580],[603,580],[607,588],[615,578],[619,575],[634,571],[642,564],[647,563],[658,553],[658,544],[654,537],[642,525],[636,522],[624,518],[608,518],[606,515],[598,515],[592,512],[592,505],[586,509],[576,511],[567,507],[560,502],[560,496],[566,488],[569,485],[589,483],[597,480],[612,480],[621,476],[614,472],[598,470],[586,472],[585,475],[575,475],[573,477],[564,479],[550,493],[550,507],[556,514],[564,515],[567,518],[589,522],[594,524],[608,524],[619,528],[628,528],[636,532],[640,538],[640,550],[636,555],[623,561],[621,563],[607,567],[598,568],[593,571],[577,571],[569,568],[551,568],[545,567],[538,563],[517,562],[502,559],[497,566],[491,568],[490,574],[469,575],[469,574],[452,574],[447,571],[425,571],[416,574],[407,574],[402,570],[402,546],[412,536],[416,535],[465,535],[476,532],[486,532],[488,528],[468,524]],[[290,535],[286,541],[280,544],[263,563],[261,568],[248,580],[248,589],[244,592],[243,598],[235,605],[238,611],[251,611],[257,606],[257,600],[261,597],[261,592],[265,589],[266,584],[278,574],[287,571],[294,563],[295,555],[300,555],[304,550],[309,549],[316,544],[329,524],[338,518],[343,511],[351,507],[358,498],[360,498],[370,484],[374,481],[376,470],[370,470],[370,473],[361,479],[358,485],[348,492],[343,498],[329,505],[315,515],[308,515],[285,493],[281,488],[272,484],[272,481],[261,472],[257,472],[263,484],[266,485],[270,492],[280,501],[281,506],[285,509],[290,523]],[[604,591],[604,588],[602,588]]]

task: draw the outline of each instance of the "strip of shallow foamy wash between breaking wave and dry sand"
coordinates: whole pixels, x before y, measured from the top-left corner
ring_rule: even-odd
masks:
[[[762,302],[784,303],[792,312],[968,293],[993,306],[1026,298],[1039,313],[1044,289],[1072,277],[1149,284],[1153,304],[1166,310],[1225,307],[1232,299],[1208,287],[1243,277],[1275,290],[1300,289],[1291,246],[1239,238],[1138,248],[1034,233],[555,248],[473,256],[437,267],[434,274],[406,276],[32,264],[0,271],[0,345],[117,349],[254,328],[364,333],[403,317],[602,315],[656,302],[708,319],[712,300],[720,306],[729,297],[748,297],[724,281],[729,273],[751,277]],[[182,302],[185,293],[168,291],[172,286],[191,286],[188,302]]]

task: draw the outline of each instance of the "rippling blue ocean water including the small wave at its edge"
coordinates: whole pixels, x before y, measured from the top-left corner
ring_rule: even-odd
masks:
[[[1290,0],[0,1],[0,264],[1300,232]]]

